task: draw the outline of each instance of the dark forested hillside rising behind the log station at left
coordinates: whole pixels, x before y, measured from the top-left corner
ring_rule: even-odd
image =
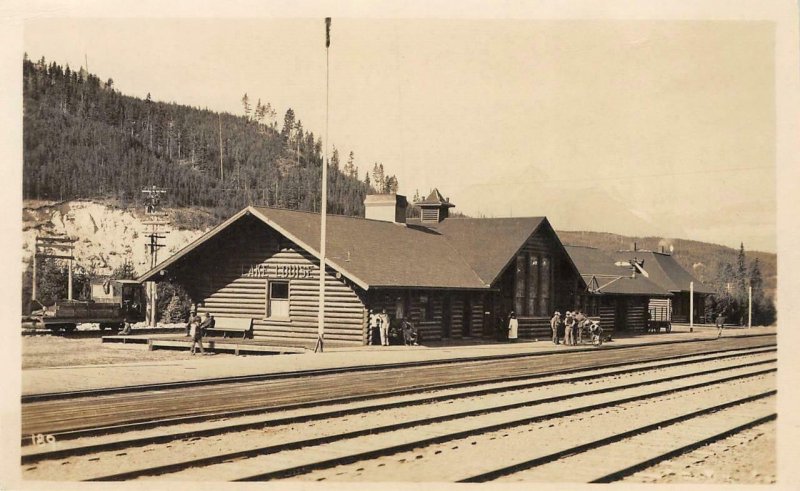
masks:
[[[166,188],[166,205],[207,207],[218,218],[248,204],[318,210],[323,148],[289,108],[241,99],[242,115],[121,94],[83,68],[44,58],[23,61],[23,197],[114,198],[123,206],[147,186]],[[237,97],[238,98],[238,97]],[[220,155],[221,154],[221,155]],[[363,214],[369,175],[353,152],[332,152],[328,210]],[[396,190],[380,169],[378,189]]]

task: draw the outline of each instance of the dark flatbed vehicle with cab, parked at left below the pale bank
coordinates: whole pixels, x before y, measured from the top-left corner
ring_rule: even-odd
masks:
[[[100,330],[120,329],[145,320],[143,286],[134,280],[98,279],[91,283],[91,300],[63,300],[44,306],[34,300],[23,327],[71,332],[79,324],[99,324]]]

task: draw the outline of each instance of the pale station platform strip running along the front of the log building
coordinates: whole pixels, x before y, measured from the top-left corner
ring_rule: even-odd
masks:
[[[777,328],[726,328],[722,337],[775,334]],[[127,342],[142,343],[148,349],[149,338],[174,338],[175,335],[135,335],[143,339]],[[613,341],[600,349],[640,346],[659,343],[713,340],[718,330],[713,325],[673,325],[671,333],[618,334]],[[181,340],[178,340],[181,341]],[[98,340],[99,342],[99,340]],[[204,344],[204,346],[208,346]],[[297,372],[342,369],[360,366],[380,366],[398,363],[431,362],[473,357],[496,357],[522,353],[542,355],[590,351],[591,345],[555,345],[550,340],[521,340],[516,343],[499,343],[484,339],[450,340],[425,346],[356,346],[326,348],[324,353],[303,351],[297,354],[275,356],[199,355],[191,360],[168,362],[141,362],[113,365],[86,365],[48,367],[22,370],[22,395],[49,394],[68,391],[90,391],[104,388],[199,381],[226,377],[263,374],[296,374]]]

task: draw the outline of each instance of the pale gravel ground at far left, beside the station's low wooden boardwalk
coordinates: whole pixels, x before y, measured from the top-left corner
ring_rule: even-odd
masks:
[[[233,356],[217,353],[206,356]],[[22,369],[191,359],[189,350],[147,351],[146,344],[103,343],[100,338],[22,338]]]

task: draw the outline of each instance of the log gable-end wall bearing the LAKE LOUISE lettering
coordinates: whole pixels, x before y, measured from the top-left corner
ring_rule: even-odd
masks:
[[[180,271],[191,285],[198,311],[215,316],[253,319],[253,337],[288,345],[311,345],[317,339],[319,263],[308,252],[263,224],[234,224],[196,251],[191,267]],[[218,240],[217,240],[218,239]],[[187,261],[187,263],[189,263]],[[289,316],[268,310],[270,281],[289,284]],[[326,271],[325,339],[333,345],[361,345],[366,340],[363,293]]]

